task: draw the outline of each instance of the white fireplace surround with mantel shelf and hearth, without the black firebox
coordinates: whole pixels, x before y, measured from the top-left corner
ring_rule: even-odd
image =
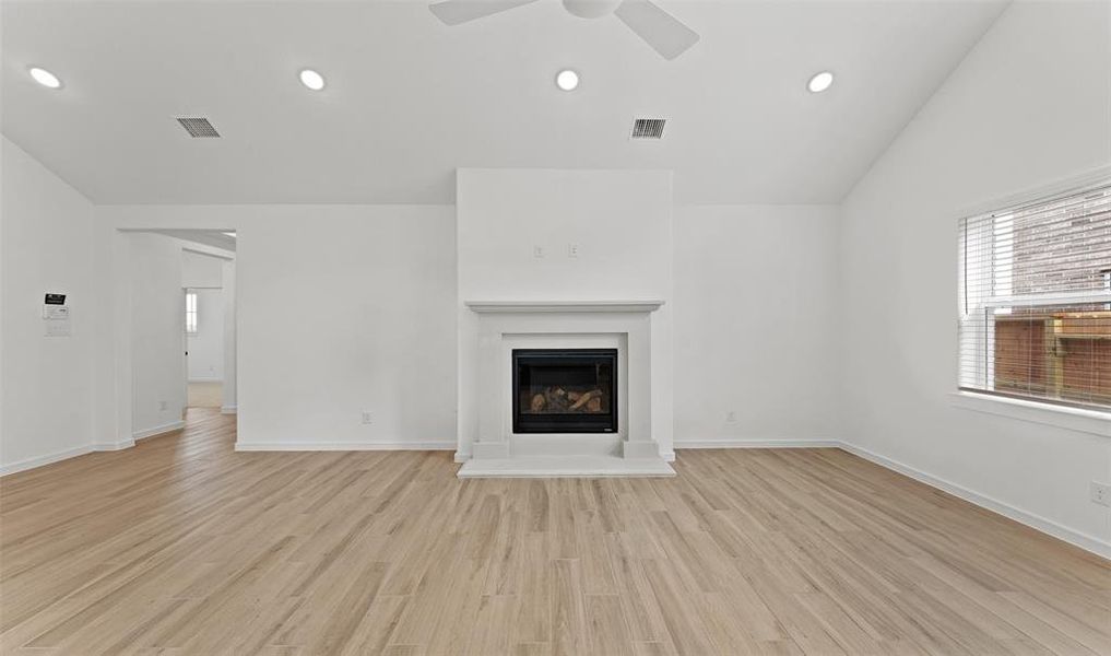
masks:
[[[457,454],[464,463],[459,476],[674,476],[653,430],[657,421],[671,418],[669,370],[657,366],[653,357],[657,349],[665,354],[668,347],[668,341],[652,339],[652,315],[662,305],[661,300],[464,301],[470,312],[460,324],[459,423],[468,438],[461,440],[467,450]],[[609,400],[617,429],[518,431],[516,406],[558,387],[541,380],[546,385],[521,398],[513,355],[528,350],[615,352],[612,378],[602,371],[591,374],[585,381],[565,384],[563,394],[578,392],[578,401],[594,391],[583,406],[594,402],[601,413],[605,399],[593,397],[612,382],[615,392]],[[546,397],[544,407],[548,402]],[[557,399],[560,408],[564,402]]]

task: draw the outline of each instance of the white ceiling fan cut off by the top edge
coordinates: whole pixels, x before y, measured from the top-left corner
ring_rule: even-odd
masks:
[[[446,0],[429,6],[444,24],[458,26],[529,4],[537,0]],[[563,0],[563,8],[579,18],[612,13],[637,32],[664,59],[674,59],[698,42],[694,30],[649,0]]]

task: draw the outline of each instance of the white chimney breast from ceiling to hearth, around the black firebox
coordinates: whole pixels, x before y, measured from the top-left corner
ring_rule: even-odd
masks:
[[[664,461],[673,458],[671,172],[460,169],[457,176],[457,460],[477,456],[491,476],[527,475],[502,460],[536,454],[564,456],[536,469],[561,476],[673,474]],[[536,245],[569,242],[590,257],[533,257]],[[622,443],[611,449],[623,465],[590,460],[611,436],[546,440],[507,433],[508,345],[552,348],[568,339],[628,347],[620,366],[632,367],[625,382],[639,391],[624,414]],[[643,471],[629,467],[633,460]],[[464,469],[478,471],[477,465]]]

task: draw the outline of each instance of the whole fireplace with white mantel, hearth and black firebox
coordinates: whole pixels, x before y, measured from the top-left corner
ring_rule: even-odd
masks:
[[[463,304],[460,478],[675,475],[655,439],[671,437],[670,338],[653,355],[653,335],[671,335],[653,318],[663,301]]]

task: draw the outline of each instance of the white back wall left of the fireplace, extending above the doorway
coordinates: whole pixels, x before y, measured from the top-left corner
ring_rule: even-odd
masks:
[[[454,446],[454,225],[442,206],[101,206],[236,229],[240,448]],[[227,284],[227,278],[224,279]],[[224,405],[236,405],[224,399]],[[362,410],[373,423],[361,423]]]

